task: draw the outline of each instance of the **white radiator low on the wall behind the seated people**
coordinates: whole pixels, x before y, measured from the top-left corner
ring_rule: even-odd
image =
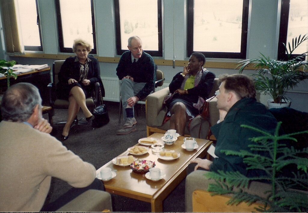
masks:
[[[105,88],[105,101],[120,101],[120,85],[119,78],[115,77],[101,77]],[[169,83],[164,83],[163,86],[156,88],[156,91],[164,89],[169,86]]]

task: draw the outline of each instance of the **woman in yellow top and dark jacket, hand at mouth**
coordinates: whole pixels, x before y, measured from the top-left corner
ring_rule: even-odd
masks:
[[[176,74],[169,85],[167,116],[171,116],[170,129],[180,135],[184,135],[186,122],[198,115],[213,88],[215,74],[203,68],[204,64],[202,53],[191,54],[188,66],[184,66],[183,72]]]

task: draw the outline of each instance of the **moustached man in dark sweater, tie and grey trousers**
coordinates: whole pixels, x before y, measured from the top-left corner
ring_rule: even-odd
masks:
[[[151,55],[142,50],[138,36],[128,38],[128,49],[122,54],[116,74],[121,81],[120,93],[125,123],[117,131],[125,135],[136,131],[134,105],[146,98],[154,89],[156,65]]]

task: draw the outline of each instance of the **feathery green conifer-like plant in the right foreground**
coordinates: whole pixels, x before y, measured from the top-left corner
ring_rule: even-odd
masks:
[[[208,172],[206,177],[215,180],[215,184],[209,184],[208,191],[211,195],[233,194],[228,201],[229,205],[246,202],[251,203],[260,201],[265,206],[257,208],[257,211],[266,212],[307,212],[308,211],[308,194],[301,191],[295,191],[293,188],[308,191],[308,147],[303,150],[295,150],[293,147],[288,148],[281,140],[291,140],[296,143],[297,140],[293,135],[308,133],[302,131],[287,135],[279,135],[281,122],[278,123],[274,135],[261,131],[255,127],[241,125],[262,134],[262,136],[252,138],[249,151],[230,151],[223,150],[226,155],[237,155],[243,158],[247,164],[247,170],[257,169],[263,171],[264,175],[258,177],[246,177],[239,172]],[[256,154],[257,152],[265,155]],[[283,175],[282,169],[290,164],[297,166],[297,171],[291,175]],[[251,195],[244,192],[243,188],[248,188],[251,181],[261,181],[271,184],[271,190],[264,191],[264,197]],[[292,190],[290,190],[292,188]]]

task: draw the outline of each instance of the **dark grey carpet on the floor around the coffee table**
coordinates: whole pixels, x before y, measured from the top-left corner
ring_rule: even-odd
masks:
[[[96,169],[121,154],[128,147],[138,143],[138,139],[146,137],[145,123],[145,107],[138,105],[137,131],[128,135],[116,135],[116,131],[120,127],[118,124],[118,107],[117,102],[105,102],[108,109],[110,122],[100,128],[93,128],[90,124],[78,127],[72,127],[69,138],[63,142],[67,149],[79,155],[84,161],[92,163]],[[43,115],[47,119],[47,114]],[[84,115],[80,110],[78,118]],[[55,109],[53,116],[54,124],[66,121],[67,109]],[[123,123],[123,122],[122,122]],[[60,138],[63,126],[54,125],[51,135]],[[50,203],[71,188],[66,182],[52,178],[51,188],[47,196],[46,202]],[[164,200],[164,212],[183,212],[184,207],[184,180],[178,187]],[[125,212],[151,212],[151,204],[126,198],[119,195],[112,195],[113,211]]]

